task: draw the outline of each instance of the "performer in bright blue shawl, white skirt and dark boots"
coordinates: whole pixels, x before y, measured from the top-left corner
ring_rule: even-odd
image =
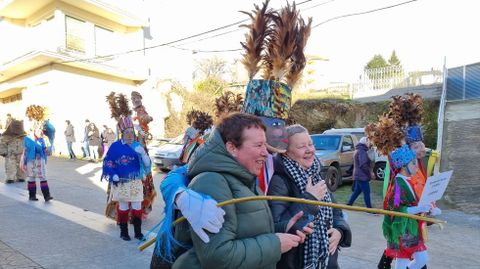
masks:
[[[150,157],[142,144],[135,141],[132,111],[123,94],[111,93],[108,103],[112,118],[117,120],[122,138],[114,142],[103,160],[102,179],[109,182],[111,201],[117,202],[116,216],[120,226],[120,237],[130,240],[128,220],[131,211],[135,238],[143,240],[142,226],[142,178],[150,172]]]

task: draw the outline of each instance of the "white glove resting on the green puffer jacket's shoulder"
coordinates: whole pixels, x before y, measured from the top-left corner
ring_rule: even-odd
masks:
[[[225,211],[217,207],[215,200],[190,189],[184,189],[176,199],[176,204],[192,226],[193,231],[203,242],[210,242],[210,238],[203,229],[211,233],[218,233],[222,228]]]

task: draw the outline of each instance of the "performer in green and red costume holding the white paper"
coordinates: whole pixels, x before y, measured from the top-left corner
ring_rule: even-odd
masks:
[[[391,177],[383,203],[385,210],[408,214],[429,212],[432,205],[418,206],[420,197],[414,191],[412,176],[418,166],[415,152],[405,143],[405,133],[394,119],[380,117],[378,123],[365,129],[377,150],[387,155],[391,164]],[[385,216],[382,229],[387,240],[385,255],[395,259],[395,268],[422,268],[427,252],[422,232],[423,221]],[[412,260],[412,261],[411,261]],[[390,265],[388,265],[390,266]]]

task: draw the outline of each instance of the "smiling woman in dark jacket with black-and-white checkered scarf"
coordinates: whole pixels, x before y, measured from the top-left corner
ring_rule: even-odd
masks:
[[[275,172],[267,194],[334,202],[332,193],[328,192],[320,177],[320,163],[315,157],[315,148],[307,129],[301,125],[292,125],[287,127],[287,135],[287,151],[274,159]],[[306,217],[289,232],[301,229],[312,219],[315,224],[315,231],[305,244],[284,253],[277,269],[339,268],[338,249],[340,246],[349,247],[352,240],[350,227],[340,209],[286,201],[270,201],[269,204],[276,223],[285,221],[300,211],[304,212]]]

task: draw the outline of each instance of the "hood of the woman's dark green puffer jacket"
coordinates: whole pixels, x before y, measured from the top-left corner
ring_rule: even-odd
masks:
[[[214,130],[193,153],[188,164],[188,177],[193,178],[203,172],[230,174],[247,186],[255,184],[257,178],[227,151],[218,130]]]

